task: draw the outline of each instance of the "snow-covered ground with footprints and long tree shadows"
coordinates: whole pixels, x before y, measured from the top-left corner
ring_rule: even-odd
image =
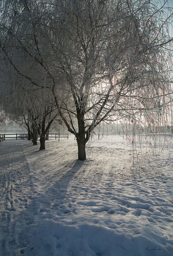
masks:
[[[172,256],[173,146],[93,139],[77,160],[70,137],[0,143],[1,256]]]

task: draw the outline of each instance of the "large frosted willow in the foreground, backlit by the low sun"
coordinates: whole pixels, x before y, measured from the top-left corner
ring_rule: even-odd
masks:
[[[170,124],[172,10],[166,2],[4,1],[3,62],[28,86],[50,90],[80,160],[101,122]]]

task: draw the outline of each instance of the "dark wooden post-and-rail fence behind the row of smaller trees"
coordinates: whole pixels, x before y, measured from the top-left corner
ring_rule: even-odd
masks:
[[[9,137],[9,135],[15,135],[15,136]],[[50,135],[52,135],[52,136],[50,136]],[[5,139],[10,139],[10,138],[16,138],[16,140],[17,139],[24,139],[24,138],[28,138],[28,134],[24,134],[24,133],[8,133],[8,134],[6,134],[6,136],[5,136],[5,133],[0,134],[0,142],[5,140]],[[67,138],[68,139],[68,134],[50,133],[48,138],[55,138],[55,139]]]

